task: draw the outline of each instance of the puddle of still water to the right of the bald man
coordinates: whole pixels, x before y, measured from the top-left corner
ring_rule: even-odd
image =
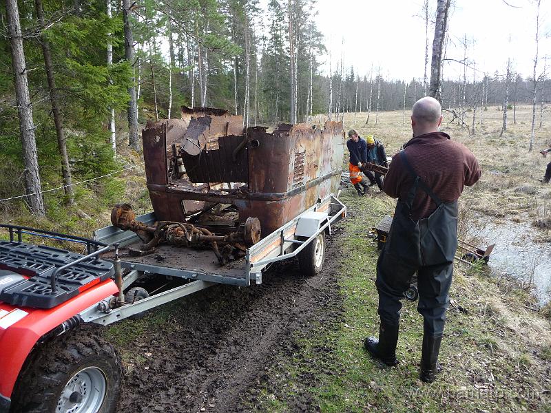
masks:
[[[490,268],[524,282],[533,274],[534,293],[539,304],[545,305],[551,301],[551,244],[533,242],[532,232],[534,228],[528,224],[485,222],[472,235],[488,245],[496,244],[490,255]]]

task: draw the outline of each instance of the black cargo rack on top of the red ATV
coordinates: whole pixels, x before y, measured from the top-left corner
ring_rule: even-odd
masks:
[[[112,246],[72,235],[0,224],[8,229],[10,241],[0,241],[0,270],[14,275],[13,282],[0,286],[0,301],[13,306],[53,308],[114,274],[111,262],[96,256]],[[22,242],[22,234],[86,244],[87,255]],[[14,239],[17,235],[17,241]]]

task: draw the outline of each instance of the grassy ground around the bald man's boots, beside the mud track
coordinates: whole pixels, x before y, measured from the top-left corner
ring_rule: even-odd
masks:
[[[422,317],[417,302],[404,301],[397,347],[399,364],[388,368],[373,361],[363,348],[368,335],[377,335],[375,288],[376,243],[367,231],[393,210],[393,201],[375,193],[357,197],[344,189],[349,215],[342,222],[342,256],[338,275],[342,319],[313,326],[296,338],[295,356],[274,368],[275,389],[263,394],[260,410],[288,411],[282,401],[309,394],[321,412],[480,412],[545,411],[550,408],[545,368],[534,366],[527,344],[505,332],[504,314],[488,304],[499,295],[482,268],[456,268],[450,297],[466,313],[450,306],[440,353],[444,372],[432,384],[419,380]],[[489,308],[491,310],[489,310]],[[510,340],[506,334],[510,335]],[[512,343],[507,343],[512,341]],[[542,350],[542,359],[550,350]],[[548,365],[549,366],[549,365]],[[277,405],[269,404],[271,394]],[[271,400],[273,402],[273,400]]]

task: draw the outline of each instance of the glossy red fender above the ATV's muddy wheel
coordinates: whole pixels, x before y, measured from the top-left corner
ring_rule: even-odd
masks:
[[[112,279],[107,279],[47,310],[18,308],[0,301],[0,412],[7,411],[3,408],[10,404],[23,363],[40,337],[116,293],[116,284]]]

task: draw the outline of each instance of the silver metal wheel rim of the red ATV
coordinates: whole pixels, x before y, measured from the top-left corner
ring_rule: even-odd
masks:
[[[56,412],[97,413],[106,392],[105,374],[97,367],[84,368],[71,377],[63,388]]]

